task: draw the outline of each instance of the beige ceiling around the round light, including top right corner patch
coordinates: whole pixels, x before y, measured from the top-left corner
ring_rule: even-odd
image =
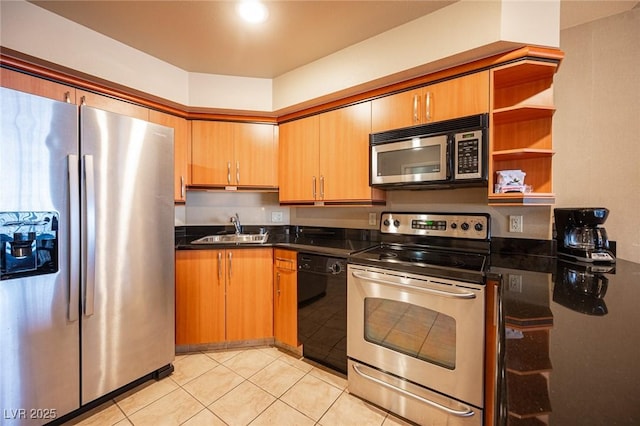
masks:
[[[31,2],[185,71],[259,78],[275,78],[454,2],[263,1],[269,19],[253,26],[239,20],[234,1]],[[562,0],[561,28],[638,3]]]

